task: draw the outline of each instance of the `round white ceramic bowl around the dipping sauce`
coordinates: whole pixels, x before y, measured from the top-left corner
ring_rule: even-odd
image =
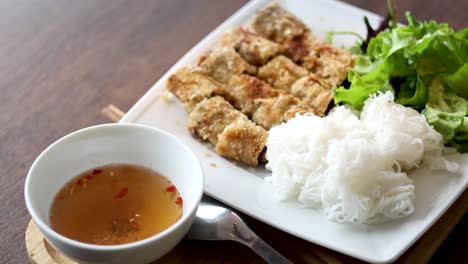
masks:
[[[142,165],[169,178],[184,200],[182,218],[162,233],[133,243],[98,246],[66,238],[50,227],[55,194],[70,179],[110,163]],[[71,133],[44,150],[25,184],[26,206],[57,249],[85,263],[148,263],[168,253],[190,229],[203,194],[203,171],[195,154],[175,136],[135,124],[98,125]]]

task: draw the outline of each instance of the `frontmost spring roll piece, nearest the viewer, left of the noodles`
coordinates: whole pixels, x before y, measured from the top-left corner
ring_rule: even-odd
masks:
[[[258,166],[268,132],[248,119],[237,119],[219,135],[216,153],[242,163]]]

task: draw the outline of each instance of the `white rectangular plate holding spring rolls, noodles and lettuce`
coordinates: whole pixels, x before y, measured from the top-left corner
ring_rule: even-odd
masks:
[[[307,241],[369,262],[391,262],[411,246],[457,199],[468,185],[468,156],[454,155],[460,162],[457,175],[418,169],[411,173],[416,186],[416,210],[408,218],[375,226],[340,224],[317,210],[295,202],[279,202],[265,169],[238,166],[219,157],[213,148],[194,138],[186,128],[187,114],[176,100],[166,103],[157,95],[165,90],[167,77],[184,65],[193,65],[223,32],[247,24],[268,0],[249,2],[180,59],[122,119],[164,129],[183,140],[200,158],[205,170],[205,192],[265,223]],[[277,1],[324,38],[330,30],[351,30],[365,35],[363,17],[376,25],[379,17],[351,5],[331,0]],[[334,45],[349,47],[353,37],[337,37]],[[184,161],[181,160],[181,163]]]

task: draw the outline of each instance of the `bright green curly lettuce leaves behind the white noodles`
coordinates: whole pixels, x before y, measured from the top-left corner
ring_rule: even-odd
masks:
[[[360,110],[369,95],[390,90],[396,102],[422,111],[446,144],[468,152],[468,28],[406,18],[407,26],[370,40],[348,72],[350,86],[334,89],[335,104]]]

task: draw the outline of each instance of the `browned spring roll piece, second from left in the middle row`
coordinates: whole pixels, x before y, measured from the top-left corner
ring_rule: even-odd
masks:
[[[246,74],[233,76],[223,89],[224,98],[248,116],[256,110],[256,99],[276,97],[280,93],[268,83]]]

